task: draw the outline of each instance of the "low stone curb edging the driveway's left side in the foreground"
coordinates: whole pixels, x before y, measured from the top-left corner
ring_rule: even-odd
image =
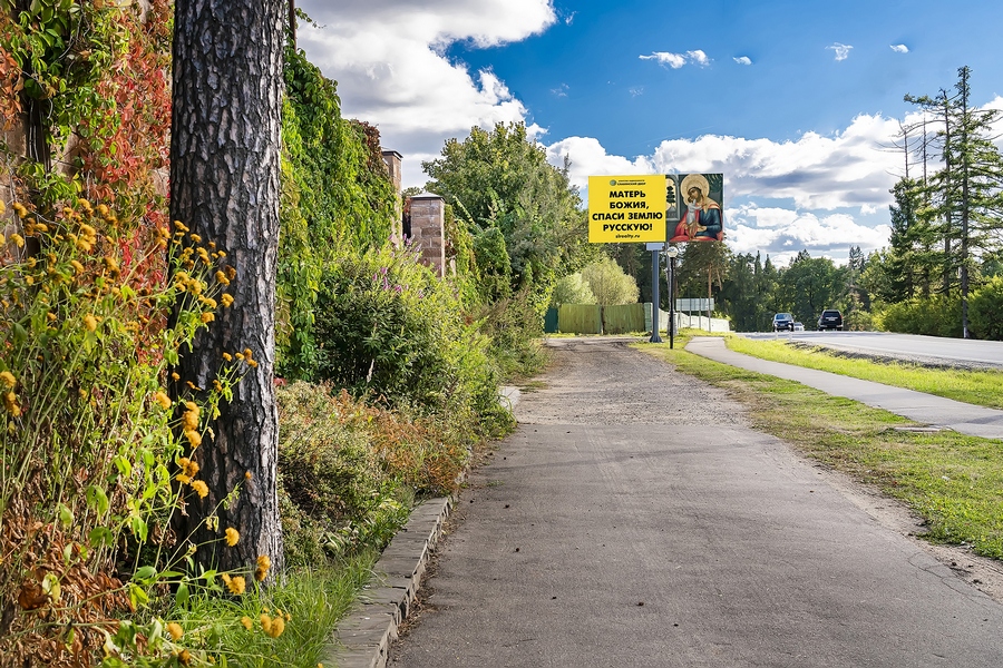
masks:
[[[397,629],[415,601],[452,504],[452,498],[431,499],[411,511],[408,523],[373,567],[370,588],[334,629],[321,659],[325,668],[387,665],[390,644],[397,639]]]

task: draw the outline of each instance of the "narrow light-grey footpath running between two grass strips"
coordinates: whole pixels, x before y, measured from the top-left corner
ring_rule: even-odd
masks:
[[[724,340],[718,336],[694,336],[686,344],[686,350],[732,366],[797,381],[834,396],[846,396],[924,424],[946,426],[983,439],[1003,439],[1003,411],[995,409],[742,355],[728,350]]]

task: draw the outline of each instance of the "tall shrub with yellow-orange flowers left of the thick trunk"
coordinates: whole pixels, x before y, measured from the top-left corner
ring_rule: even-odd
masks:
[[[132,628],[135,640],[120,611],[165,581],[171,513],[201,482],[183,455],[244,367],[225,367],[197,400],[164,390],[214,297],[227,302],[213,278],[223,254],[205,246],[174,254],[174,279],[156,279],[183,225],[147,229],[136,245],[104,205],[80,200],[51,219],[13,208],[41,252],[26,256],[21,234],[0,235],[0,656],[76,666],[109,633]],[[172,566],[187,544],[177,547]]]

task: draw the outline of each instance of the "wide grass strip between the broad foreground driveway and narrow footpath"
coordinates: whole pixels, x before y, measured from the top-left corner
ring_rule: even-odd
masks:
[[[685,340],[678,343],[685,343]],[[727,390],[756,429],[906,502],[931,541],[970,544],[1003,559],[1003,443],[954,432],[917,433],[887,411],[799,383],[719,364],[665,345],[644,350]]]

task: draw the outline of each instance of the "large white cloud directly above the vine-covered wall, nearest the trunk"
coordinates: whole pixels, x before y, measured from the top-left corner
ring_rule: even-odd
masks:
[[[383,146],[406,156],[405,185],[423,183],[421,160],[447,137],[527,116],[493,71],[450,62],[446,47],[518,41],[557,21],[548,0],[301,0],[300,7],[321,26],[300,26],[300,48],[338,81],[342,112],[377,125]]]

